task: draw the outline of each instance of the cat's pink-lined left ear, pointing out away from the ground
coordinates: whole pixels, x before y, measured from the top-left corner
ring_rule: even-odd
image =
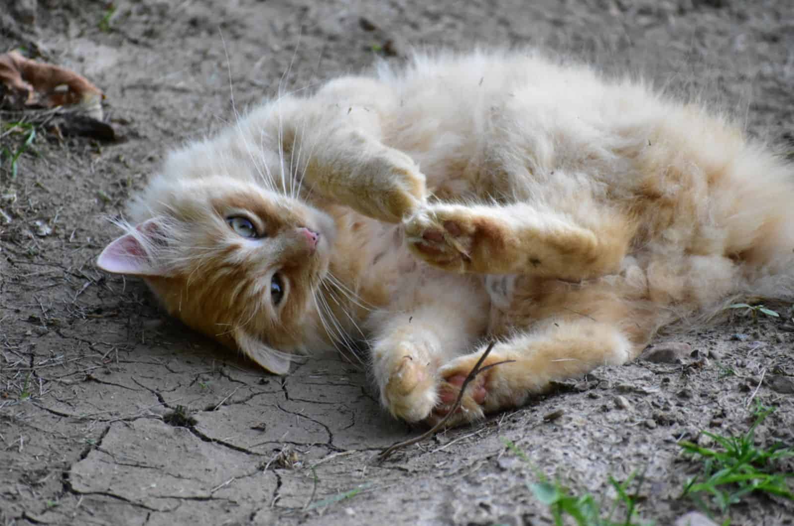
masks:
[[[109,273],[130,276],[162,275],[160,265],[152,261],[146,246],[163,243],[162,229],[157,219],[149,219],[106,246],[97,258],[97,266]]]

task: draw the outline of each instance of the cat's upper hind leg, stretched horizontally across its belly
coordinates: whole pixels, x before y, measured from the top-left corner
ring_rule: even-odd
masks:
[[[441,269],[574,281],[619,269],[634,233],[632,222],[607,208],[574,218],[532,203],[433,204],[405,229],[414,254]]]

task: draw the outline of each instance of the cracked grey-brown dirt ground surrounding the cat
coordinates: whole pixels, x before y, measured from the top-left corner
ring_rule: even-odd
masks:
[[[165,319],[139,280],[94,267],[117,234],[108,218],[164,153],[233,120],[232,90],[243,109],[275,95],[282,78],[311,89],[373,60],[404,60],[411,46],[569,52],[715,103],[792,150],[790,0],[108,7],[0,8],[0,52],[38,50],[87,75],[121,137],[42,132],[15,179],[7,164],[0,172],[0,524],[551,524],[527,488],[535,470],[607,498],[610,476],[637,472],[642,516],[673,524],[696,509],[680,498],[696,473],[680,439],[746,431],[760,402],[778,409],[757,441],[794,445],[789,304],[773,306],[780,318],[731,311],[713,327],[661,336],[657,345],[687,344],[683,358],[598,369],[379,464],[381,448],[421,430],[384,415],[359,367],[329,352],[269,376]],[[794,524],[794,505],[750,496],[730,518]]]

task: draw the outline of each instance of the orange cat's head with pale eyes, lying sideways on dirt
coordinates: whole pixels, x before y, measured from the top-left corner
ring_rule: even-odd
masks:
[[[330,262],[332,219],[276,189],[229,177],[148,188],[147,216],[98,257],[141,276],[168,312],[273,373],[303,352]]]

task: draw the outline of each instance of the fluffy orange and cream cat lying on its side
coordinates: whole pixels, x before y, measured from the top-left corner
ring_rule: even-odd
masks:
[[[98,257],[272,373],[368,342],[392,415],[526,403],[742,293],[792,295],[794,169],[541,52],[418,54],[171,153]],[[499,363],[503,362],[503,363]]]

